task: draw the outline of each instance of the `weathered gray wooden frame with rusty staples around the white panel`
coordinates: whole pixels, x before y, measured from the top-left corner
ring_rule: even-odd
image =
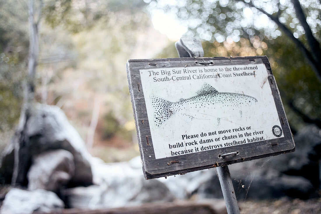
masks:
[[[253,143],[199,151],[190,154],[155,157],[153,136],[151,135],[144,90],[140,71],[144,69],[257,65],[264,64],[267,72],[267,82],[271,88],[276,111],[280,121],[279,126],[273,127],[273,134],[280,134],[282,138],[268,139]],[[127,78],[129,92],[132,99],[134,119],[141,153],[143,173],[145,179],[184,174],[201,169],[208,169],[221,165],[229,165],[243,161],[275,156],[295,151],[293,135],[290,131],[274,76],[266,56],[256,57],[215,57],[215,58],[164,58],[164,59],[130,59],[127,61]],[[274,129],[279,131],[274,133]],[[281,136],[280,135],[280,136]]]

